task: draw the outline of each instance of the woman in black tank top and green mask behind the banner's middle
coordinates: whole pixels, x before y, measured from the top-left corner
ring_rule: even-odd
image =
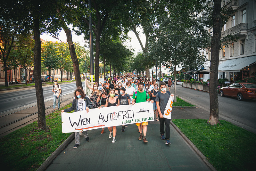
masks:
[[[106,101],[105,107],[108,106],[119,106],[120,101],[118,98],[115,97],[115,90],[110,90],[109,91],[109,98]],[[98,107],[100,108],[100,107]],[[112,129],[113,127],[113,129]],[[111,139],[112,134],[113,134],[113,140],[111,143],[115,143],[116,142],[116,126],[112,126],[112,127],[108,127],[109,130],[109,136],[108,138]]]

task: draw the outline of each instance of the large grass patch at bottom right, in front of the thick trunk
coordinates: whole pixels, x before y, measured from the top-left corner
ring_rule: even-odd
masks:
[[[203,119],[172,121],[218,171],[255,169],[256,134],[224,120],[218,126]]]

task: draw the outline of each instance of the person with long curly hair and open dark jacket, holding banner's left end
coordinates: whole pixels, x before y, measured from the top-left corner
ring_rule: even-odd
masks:
[[[89,100],[88,97],[85,96],[85,93],[82,89],[78,88],[75,90],[75,99],[72,102],[72,106],[68,109],[62,110],[61,112],[77,112],[78,110],[86,110],[89,112],[89,109],[92,109],[93,105],[92,102]],[[83,131],[85,140],[88,142],[90,141],[87,131]],[[80,135],[79,132],[75,132],[75,141],[76,144],[73,148],[77,148],[80,145]]]

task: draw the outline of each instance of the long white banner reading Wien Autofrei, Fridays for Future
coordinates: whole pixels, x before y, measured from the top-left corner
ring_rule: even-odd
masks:
[[[90,109],[73,113],[63,112],[62,133],[79,132],[110,126],[135,124],[154,121],[153,104],[151,101]]]

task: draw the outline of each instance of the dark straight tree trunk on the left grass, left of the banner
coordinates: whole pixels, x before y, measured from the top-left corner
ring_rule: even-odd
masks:
[[[33,17],[33,31],[34,31],[34,78],[35,78],[35,87],[37,95],[37,111],[38,111],[38,129],[45,130],[45,102],[43,87],[41,82],[41,40],[40,40],[40,30],[39,30],[39,20],[36,17]]]

